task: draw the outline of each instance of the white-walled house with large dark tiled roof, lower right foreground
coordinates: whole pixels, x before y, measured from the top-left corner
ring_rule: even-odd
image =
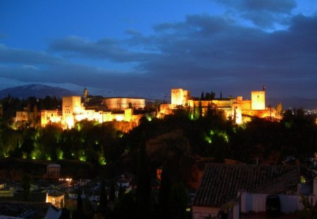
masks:
[[[192,218],[214,217],[230,209],[237,217],[240,209],[242,213],[265,211],[268,194],[280,194],[282,211],[291,212],[300,208],[294,204],[300,197],[298,184],[297,166],[207,164],[194,198]],[[292,208],[287,201],[292,202]]]

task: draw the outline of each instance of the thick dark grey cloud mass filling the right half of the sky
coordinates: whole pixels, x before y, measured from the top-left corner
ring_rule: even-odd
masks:
[[[316,26],[316,17],[304,15],[292,18],[288,30],[276,32],[208,15],[188,16],[184,23],[156,26],[160,35],[151,42],[156,42],[162,55],[139,68],[175,81],[208,81],[210,87],[223,80],[230,87],[254,83],[259,89],[261,83],[283,85],[284,80],[292,79],[297,81],[294,87],[307,91],[303,77],[316,83]],[[290,83],[284,84],[290,89]],[[309,89],[316,94],[312,86]]]

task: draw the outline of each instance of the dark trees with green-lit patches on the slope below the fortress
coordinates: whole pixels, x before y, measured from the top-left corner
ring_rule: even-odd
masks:
[[[207,94],[204,93],[204,99]],[[46,101],[49,103],[49,98]],[[51,101],[53,103],[54,98]],[[49,107],[45,101],[35,98],[23,102],[8,96],[2,102],[4,113],[9,113],[10,107],[20,109],[28,105],[30,111],[35,106],[40,110],[41,103],[43,107]],[[254,163],[256,158],[267,160],[272,156],[278,156],[278,161],[282,161],[283,156],[307,156],[316,151],[316,117],[304,115],[302,109],[285,111],[280,121],[252,118],[249,123],[233,125],[225,119],[223,111],[211,103],[204,115],[200,105],[187,109],[180,107],[163,119],[142,118],[140,125],[127,134],[118,132],[113,123],[97,124],[88,120],[76,123],[72,130],[61,130],[56,125],[13,130],[4,116],[0,120],[0,156],[52,161],[77,159],[97,166],[106,165],[117,162],[123,153],[135,153],[138,150],[135,142],[139,142],[145,130],[148,139],[182,130],[192,154],[214,157],[218,162],[232,158]]]

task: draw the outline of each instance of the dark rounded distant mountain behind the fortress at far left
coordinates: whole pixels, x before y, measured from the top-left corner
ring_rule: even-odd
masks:
[[[27,99],[30,96],[35,96],[37,98],[45,98],[45,96],[72,96],[79,95],[76,92],[72,92],[68,89],[63,89],[59,87],[50,87],[47,85],[24,85],[19,87],[11,87],[7,89],[0,90],[0,99],[5,96],[18,97],[19,99]]]

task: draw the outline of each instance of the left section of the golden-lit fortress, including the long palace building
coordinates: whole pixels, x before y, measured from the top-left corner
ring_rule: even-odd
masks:
[[[87,107],[88,103],[89,97],[85,88],[83,96],[63,96],[61,110],[43,110],[37,115],[36,112],[30,113],[25,109],[16,112],[15,121],[30,121],[39,116],[42,127],[58,123],[63,128],[72,128],[76,122],[81,120],[94,120],[99,123],[116,120],[133,123],[132,126],[135,126],[139,124],[139,119],[145,114],[144,111],[142,112],[145,107],[145,99],[104,98],[101,104]],[[141,113],[137,114],[134,112],[135,110],[141,111]]]

